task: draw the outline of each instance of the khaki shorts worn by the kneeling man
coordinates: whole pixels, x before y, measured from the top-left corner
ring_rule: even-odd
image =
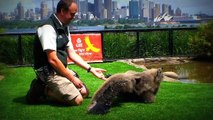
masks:
[[[71,70],[70,72],[73,75],[75,74]],[[79,89],[70,80],[56,73],[48,77],[47,86],[52,94],[54,94],[54,97],[64,101],[71,101],[81,94]]]

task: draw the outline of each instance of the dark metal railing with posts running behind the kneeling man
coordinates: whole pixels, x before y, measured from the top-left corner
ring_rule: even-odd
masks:
[[[196,30],[196,27],[181,27],[181,28],[145,28],[145,29],[106,29],[106,30],[74,30],[71,31],[70,34],[84,34],[84,33],[100,33],[102,36],[102,44],[103,44],[103,36],[105,33],[124,33],[124,32],[133,32],[136,34],[136,50],[137,54],[140,54],[140,33],[141,32],[153,32],[153,31],[167,31],[168,32],[168,48],[169,48],[169,55],[173,56],[173,47],[174,47],[174,40],[173,40],[173,33],[174,31],[178,30]],[[28,32],[28,33],[22,33],[22,32],[12,32],[12,33],[0,33],[1,36],[18,36],[18,47],[17,51],[19,54],[19,61],[20,64],[24,64],[23,62],[23,52],[22,52],[22,36],[24,35],[35,35],[35,32]],[[1,40],[1,39],[0,39]],[[103,46],[104,47],[104,46]],[[103,52],[104,57],[104,52]]]

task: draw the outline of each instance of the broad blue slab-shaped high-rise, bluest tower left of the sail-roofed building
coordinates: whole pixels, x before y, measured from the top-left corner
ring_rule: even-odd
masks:
[[[129,18],[138,19],[138,1],[129,1]]]

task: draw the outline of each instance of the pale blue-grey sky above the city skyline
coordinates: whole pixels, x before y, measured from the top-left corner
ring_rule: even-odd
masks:
[[[22,2],[25,10],[30,8],[39,7],[42,0],[0,0],[0,11],[11,12],[13,11],[18,2]],[[44,0],[51,5],[52,0]],[[55,0],[55,5],[59,0]],[[93,3],[94,0],[89,0]],[[113,0],[118,1],[119,5],[127,5],[130,0]],[[170,4],[173,9],[181,8],[182,12],[189,14],[206,13],[213,15],[213,1],[212,0],[150,0],[154,3]]]

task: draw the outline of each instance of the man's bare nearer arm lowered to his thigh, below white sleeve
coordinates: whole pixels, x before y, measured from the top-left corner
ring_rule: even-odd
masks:
[[[51,66],[62,76],[69,79],[77,88],[83,87],[83,83],[77,77],[74,77],[67,68],[64,67],[63,63],[58,59],[56,51],[46,50],[48,62]]]

